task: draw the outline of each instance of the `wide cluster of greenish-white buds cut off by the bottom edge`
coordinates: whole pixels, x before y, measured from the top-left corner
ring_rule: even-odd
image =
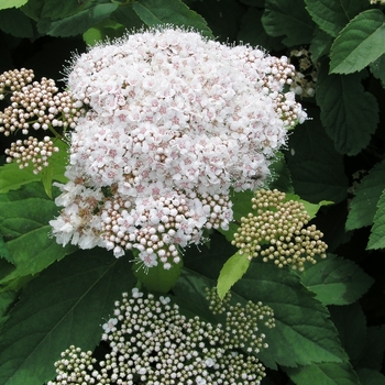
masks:
[[[109,345],[105,360],[97,362],[91,352],[70,346],[55,363],[57,376],[48,385],[260,384],[264,366],[252,353],[267,346],[258,326],[274,327],[273,310],[261,302],[228,306],[230,295],[218,306],[215,290],[208,297],[223,307],[224,324],[187,319],[169,297],[144,297],[136,288],[131,298],[123,294],[114,318],[102,326]]]

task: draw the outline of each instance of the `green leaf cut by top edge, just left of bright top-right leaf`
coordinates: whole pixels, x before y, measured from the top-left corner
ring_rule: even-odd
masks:
[[[305,2],[311,19],[333,37],[337,37],[351,19],[367,9],[366,0],[305,0]]]

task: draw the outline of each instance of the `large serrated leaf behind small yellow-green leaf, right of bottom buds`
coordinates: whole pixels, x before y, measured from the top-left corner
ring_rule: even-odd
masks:
[[[211,249],[210,253],[186,253],[185,265],[216,279],[232,251],[218,233],[211,237]],[[231,292],[244,300],[262,301],[273,308],[276,327],[266,332],[268,349],[258,354],[270,367],[275,369],[276,364],[297,366],[323,361],[343,362],[346,359],[328,310],[286,268],[277,268],[256,258]]]

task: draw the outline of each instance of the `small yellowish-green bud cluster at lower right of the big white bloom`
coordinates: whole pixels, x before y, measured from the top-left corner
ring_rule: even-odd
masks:
[[[328,245],[315,224],[305,227],[310,220],[305,206],[285,198],[278,190],[255,191],[255,213],[241,219],[232,244],[249,258],[261,255],[264,262],[272,260],[278,267],[292,265],[304,271],[306,261],[315,264],[317,255],[327,256]]]

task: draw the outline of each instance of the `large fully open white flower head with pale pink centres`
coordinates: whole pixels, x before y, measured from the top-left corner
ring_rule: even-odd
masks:
[[[306,119],[284,92],[293,76],[286,57],[170,28],[77,57],[68,88],[88,112],[51,221],[57,242],[136,249],[145,266],[169,268],[205,228],[227,229],[230,188],[261,186]]]

